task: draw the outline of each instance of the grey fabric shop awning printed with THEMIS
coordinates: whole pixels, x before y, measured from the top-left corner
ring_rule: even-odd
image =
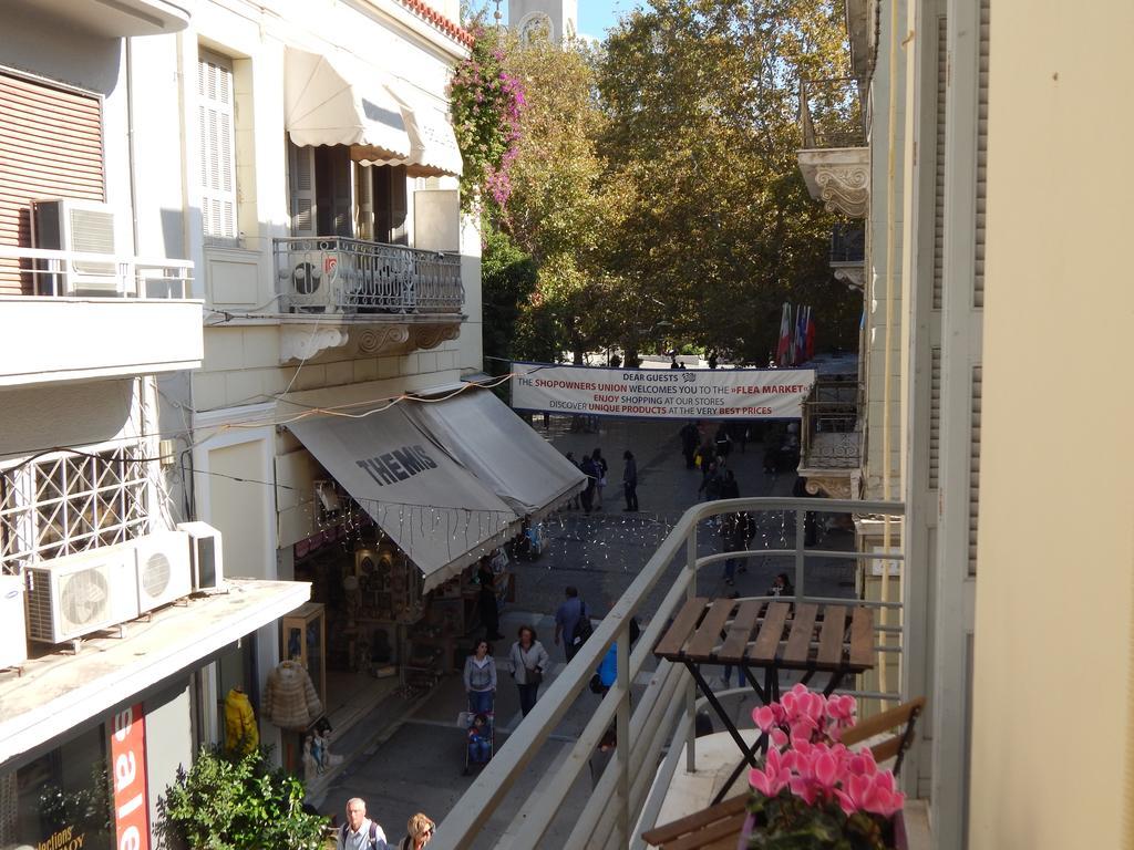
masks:
[[[403,407],[288,428],[417,564],[429,592],[513,536],[519,517]]]

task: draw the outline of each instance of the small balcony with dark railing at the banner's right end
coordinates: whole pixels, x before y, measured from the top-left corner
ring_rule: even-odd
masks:
[[[807,492],[832,499],[857,495],[863,434],[858,422],[862,384],[821,375],[803,402],[799,476]]]

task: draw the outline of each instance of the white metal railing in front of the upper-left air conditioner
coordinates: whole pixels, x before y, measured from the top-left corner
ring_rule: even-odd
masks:
[[[28,296],[185,299],[193,263],[0,245],[0,287]]]

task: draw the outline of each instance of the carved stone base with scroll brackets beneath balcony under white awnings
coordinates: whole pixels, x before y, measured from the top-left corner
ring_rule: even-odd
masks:
[[[329,326],[298,322],[280,328],[280,363],[318,360],[332,348],[349,347],[355,357],[384,357],[437,348],[460,335],[460,321],[446,322],[342,322]],[[341,357],[341,355],[340,355]]]

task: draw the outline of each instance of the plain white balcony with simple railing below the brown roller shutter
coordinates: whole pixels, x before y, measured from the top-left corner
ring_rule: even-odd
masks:
[[[202,303],[184,260],[0,246],[0,386],[193,369]],[[16,287],[12,287],[16,288]]]

